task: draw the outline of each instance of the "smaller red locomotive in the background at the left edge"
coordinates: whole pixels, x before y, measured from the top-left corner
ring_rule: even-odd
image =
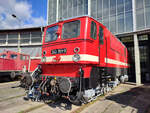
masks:
[[[30,56],[26,54],[4,51],[0,53],[0,76],[9,76],[13,79],[23,73],[32,72],[40,61],[40,58],[30,59]]]

